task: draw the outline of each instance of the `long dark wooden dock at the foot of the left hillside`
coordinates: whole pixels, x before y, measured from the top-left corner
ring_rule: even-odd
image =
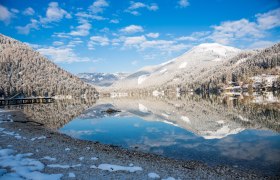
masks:
[[[0,99],[0,106],[34,104],[34,103],[52,103],[52,102],[54,102],[54,98],[51,97]]]

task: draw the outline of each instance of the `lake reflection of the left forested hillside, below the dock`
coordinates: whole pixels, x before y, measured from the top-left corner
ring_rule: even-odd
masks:
[[[21,110],[27,118],[44,124],[51,129],[59,129],[95,104],[95,99],[59,100],[49,104],[29,104],[6,107]]]

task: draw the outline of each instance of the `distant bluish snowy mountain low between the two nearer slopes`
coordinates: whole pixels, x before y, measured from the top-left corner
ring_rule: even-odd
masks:
[[[96,86],[110,86],[115,81],[121,80],[125,78],[128,74],[127,73],[80,73],[77,76],[90,84]]]

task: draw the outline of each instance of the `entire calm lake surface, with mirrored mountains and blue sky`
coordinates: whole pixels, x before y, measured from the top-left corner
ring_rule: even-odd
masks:
[[[75,138],[279,174],[279,100],[273,93],[182,95],[56,101],[6,108],[21,109],[30,119]],[[102,112],[108,108],[121,112]]]

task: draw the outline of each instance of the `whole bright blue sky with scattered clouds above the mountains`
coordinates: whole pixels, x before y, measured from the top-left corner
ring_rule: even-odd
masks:
[[[1,0],[0,33],[80,72],[133,72],[191,47],[280,41],[279,0]]]

